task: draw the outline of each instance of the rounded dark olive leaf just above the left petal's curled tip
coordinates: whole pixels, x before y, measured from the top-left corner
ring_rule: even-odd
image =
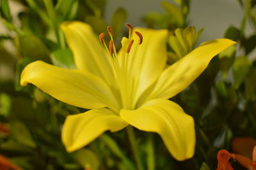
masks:
[[[20,36],[18,47],[23,57],[45,61],[49,56],[49,50],[42,40],[35,35]]]

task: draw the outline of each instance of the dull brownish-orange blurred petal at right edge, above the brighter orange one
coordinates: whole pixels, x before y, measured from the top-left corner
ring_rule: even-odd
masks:
[[[232,150],[234,153],[252,158],[252,150],[256,145],[256,140],[250,137],[236,137],[232,140]]]

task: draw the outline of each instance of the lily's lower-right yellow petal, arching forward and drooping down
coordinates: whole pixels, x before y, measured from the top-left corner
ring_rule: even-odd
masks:
[[[166,148],[177,160],[193,157],[194,120],[174,102],[165,99],[150,100],[134,111],[122,109],[120,116],[140,130],[159,134]]]

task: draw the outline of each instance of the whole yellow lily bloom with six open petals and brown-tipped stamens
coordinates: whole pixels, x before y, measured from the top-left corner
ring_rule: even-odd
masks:
[[[117,53],[110,27],[108,48],[104,34],[97,40],[88,24],[65,22],[61,29],[77,70],[35,61],[24,68],[20,83],[32,83],[62,102],[92,109],[67,116],[62,131],[67,151],[83,148],[106,130],[116,132],[132,125],[159,134],[177,160],[191,158],[194,120],[168,98],[188,87],[214,56],[235,42],[205,42],[168,66],[167,30],[132,30],[127,26],[129,38],[122,38],[122,49]]]

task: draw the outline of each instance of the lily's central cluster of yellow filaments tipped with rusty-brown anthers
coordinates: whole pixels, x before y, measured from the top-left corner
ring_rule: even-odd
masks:
[[[137,77],[134,77],[134,74],[132,74],[132,65],[134,65],[133,57],[134,54],[136,54],[138,45],[143,43],[143,36],[140,32],[133,31],[133,28],[130,24],[126,24],[126,26],[129,29],[129,38],[122,39],[122,49],[120,52],[116,52],[115,42],[113,40],[113,31],[111,27],[107,27],[109,36],[111,38],[108,45],[104,40],[105,33],[101,33],[99,35],[99,40],[107,50],[109,57],[111,58],[113,69],[115,70],[114,72],[116,82],[120,92],[118,96],[120,96],[120,99],[122,100],[121,108],[134,109],[136,105],[136,86],[138,86],[138,84],[136,84],[136,81],[134,81]],[[132,36],[133,33],[135,33],[135,37]],[[136,41],[138,44],[134,44],[134,38],[139,38]]]

